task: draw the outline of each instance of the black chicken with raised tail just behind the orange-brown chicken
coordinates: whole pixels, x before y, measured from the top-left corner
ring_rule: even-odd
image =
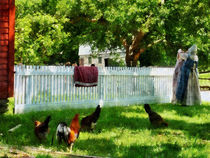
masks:
[[[88,115],[81,120],[81,130],[93,131],[100,113],[101,106],[98,105],[91,115]]]

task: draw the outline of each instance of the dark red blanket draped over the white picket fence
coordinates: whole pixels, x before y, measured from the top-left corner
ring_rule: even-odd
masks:
[[[93,87],[98,83],[98,68],[95,66],[75,66],[74,84],[76,87]]]

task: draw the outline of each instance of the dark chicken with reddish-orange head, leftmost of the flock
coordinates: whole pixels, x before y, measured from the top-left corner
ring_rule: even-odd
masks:
[[[40,140],[40,142],[44,139],[46,139],[46,135],[49,133],[49,122],[51,120],[51,116],[47,116],[44,122],[35,121],[35,135]]]

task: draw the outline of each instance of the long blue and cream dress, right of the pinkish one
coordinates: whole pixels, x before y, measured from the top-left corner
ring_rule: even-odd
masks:
[[[181,55],[186,61],[181,67],[180,77],[177,80],[176,100],[178,103],[188,106],[201,104],[196,52],[197,47],[195,48],[193,45],[187,51],[187,56]]]

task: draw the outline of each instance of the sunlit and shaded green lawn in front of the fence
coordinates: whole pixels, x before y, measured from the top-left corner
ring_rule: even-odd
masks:
[[[95,131],[81,132],[72,154],[123,158],[207,158],[210,155],[209,103],[192,107],[153,104],[151,108],[165,118],[169,123],[168,128],[152,127],[142,105],[103,107]],[[55,141],[50,145],[58,122],[65,121],[69,124],[75,113],[80,113],[82,118],[92,111],[94,109],[70,109],[0,115],[0,133],[3,134],[0,136],[0,146],[15,146],[23,151],[25,146],[42,146],[52,151],[66,152],[65,144],[59,146]],[[47,141],[40,144],[34,136],[33,121],[42,121],[47,115],[52,116],[50,134]],[[14,133],[7,132],[20,123],[23,126]],[[55,156],[44,152],[28,153],[37,157]]]

